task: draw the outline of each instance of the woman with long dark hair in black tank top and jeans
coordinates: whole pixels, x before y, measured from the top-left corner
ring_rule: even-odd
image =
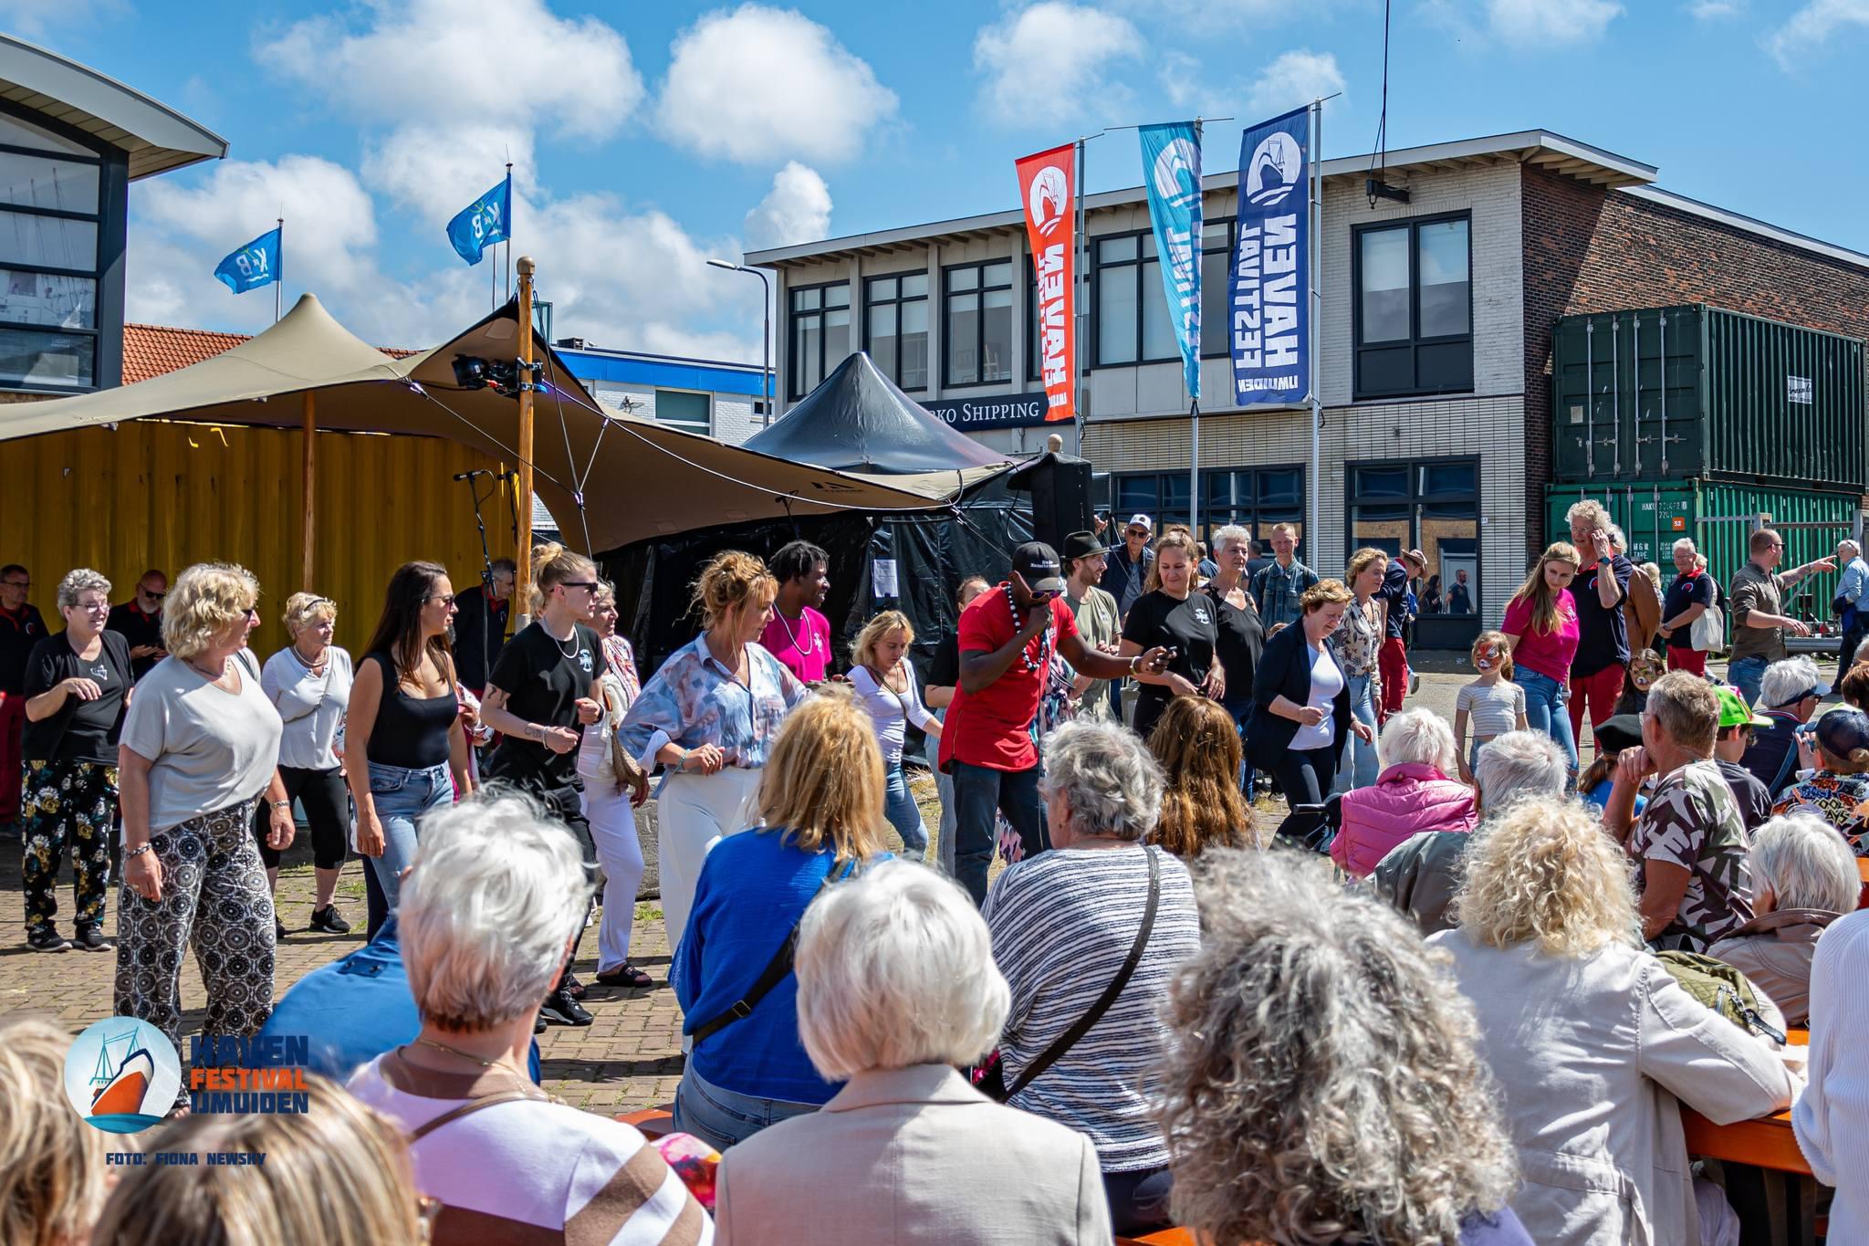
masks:
[[[467,732],[456,699],[449,620],[454,585],[437,562],[404,562],[389,577],[383,615],[351,682],[344,775],[357,803],[357,852],[383,893],[368,938],[396,910],[417,824],[473,790]]]

